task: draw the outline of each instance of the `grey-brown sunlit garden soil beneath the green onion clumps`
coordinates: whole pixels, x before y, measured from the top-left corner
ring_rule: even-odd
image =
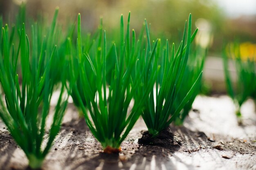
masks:
[[[184,126],[171,125],[148,142],[140,118],[121,152],[106,154],[69,104],[43,170],[256,170],[254,102],[242,106],[243,126],[238,126],[234,109],[227,96],[198,96]],[[26,169],[24,152],[0,122],[0,170]]]

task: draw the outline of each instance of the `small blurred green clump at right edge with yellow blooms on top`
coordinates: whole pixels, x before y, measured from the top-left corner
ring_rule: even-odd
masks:
[[[236,105],[236,116],[238,123],[241,122],[240,107],[249,98],[256,99],[256,48],[244,51],[245,46],[239,43],[230,43],[224,51],[224,71],[227,92]],[[234,62],[236,68],[236,82],[232,84],[229,74],[229,58]],[[236,87],[235,87],[236,85]]]

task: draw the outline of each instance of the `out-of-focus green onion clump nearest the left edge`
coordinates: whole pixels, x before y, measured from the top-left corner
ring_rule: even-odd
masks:
[[[58,9],[49,35],[45,37],[41,37],[42,25],[36,23],[31,26],[31,41],[26,34],[25,24],[22,24],[22,28],[17,26],[18,37],[15,38],[19,39],[18,46],[13,42],[15,27],[10,32],[6,24],[0,33],[0,117],[18,146],[25,152],[32,169],[42,166],[59,131],[67,106],[68,96],[64,94],[66,76],[63,72],[59,77],[60,94],[52,125],[46,135],[46,120],[56,85],[52,76],[53,71],[58,68],[58,48],[53,40],[58,37],[54,32],[57,13]]]

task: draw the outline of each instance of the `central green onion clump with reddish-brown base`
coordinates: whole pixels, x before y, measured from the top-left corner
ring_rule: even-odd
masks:
[[[130,36],[130,14],[126,35],[123,16],[120,25],[120,44],[112,44],[110,50],[107,50],[107,34],[104,31],[103,35],[99,35],[103,38],[103,43],[96,43],[95,48],[92,48],[91,56],[83,53],[79,14],[76,55],[70,55],[71,82],[80,78],[83,84],[83,93],[79,93],[78,87],[73,83],[72,93],[78,96],[85,121],[92,134],[108,153],[119,152],[121,142],[141,115],[142,107],[157,77],[157,65],[154,64],[157,42],[151,51],[145,53],[146,62],[144,69],[141,70],[140,60],[137,57],[141,51],[141,41],[136,40],[134,30]],[[72,49],[70,38],[69,41]],[[78,67],[75,60],[78,60]],[[112,69],[107,66],[109,60],[113,62]],[[151,68],[151,65],[154,66]],[[146,73],[148,82],[144,84],[140,79]],[[144,91],[139,91],[141,87]],[[85,98],[88,110],[83,104],[82,97]]]

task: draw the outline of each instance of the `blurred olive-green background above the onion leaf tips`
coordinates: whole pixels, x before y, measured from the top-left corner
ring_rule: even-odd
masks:
[[[256,6],[251,1],[240,3],[251,8]],[[0,0],[0,15],[4,21],[14,20],[22,2],[27,4],[27,18],[34,19],[43,14],[51,20],[58,6],[58,22],[64,26],[67,21],[75,21],[77,13],[81,13],[83,28],[90,32],[97,28],[100,17],[108,33],[115,32],[121,13],[126,18],[131,11],[132,28],[139,31],[146,18],[151,23],[154,38],[167,38],[171,42],[180,40],[184,21],[192,13],[194,27],[199,27],[202,34],[200,41],[210,45],[209,55],[220,55],[223,43],[234,39],[256,42],[256,11],[248,13],[244,8],[244,12],[236,12],[239,0]],[[230,12],[232,8],[233,13]]]

